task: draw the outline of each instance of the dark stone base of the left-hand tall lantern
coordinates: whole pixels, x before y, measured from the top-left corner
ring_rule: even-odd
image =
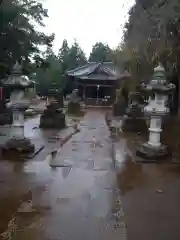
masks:
[[[20,153],[32,153],[35,146],[28,138],[11,138],[5,143],[3,149],[7,151],[15,150]]]

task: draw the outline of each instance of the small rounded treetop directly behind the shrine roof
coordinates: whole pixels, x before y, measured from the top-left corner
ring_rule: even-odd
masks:
[[[110,62],[112,61],[112,50],[108,45],[97,42],[90,53],[90,62]]]

